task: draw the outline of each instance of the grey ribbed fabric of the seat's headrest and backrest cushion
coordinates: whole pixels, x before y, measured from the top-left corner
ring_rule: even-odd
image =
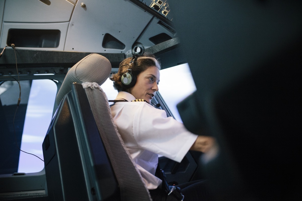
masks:
[[[93,73],[88,72],[90,70]],[[59,104],[63,96],[71,90],[72,83],[82,83],[116,175],[121,199],[129,201],[152,200],[140,172],[113,123],[107,96],[99,86],[100,83],[105,82],[110,72],[111,64],[107,58],[98,54],[86,56],[66,74],[56,102]]]

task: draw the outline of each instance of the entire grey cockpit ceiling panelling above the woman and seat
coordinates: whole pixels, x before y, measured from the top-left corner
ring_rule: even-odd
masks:
[[[21,49],[133,54],[137,44],[147,49],[176,37],[165,0],[1,3],[1,47],[14,43]],[[18,29],[18,34],[10,34],[12,29]],[[50,38],[47,30],[59,34]]]

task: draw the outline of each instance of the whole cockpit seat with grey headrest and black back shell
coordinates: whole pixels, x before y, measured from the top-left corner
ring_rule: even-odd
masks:
[[[149,191],[113,123],[107,96],[100,87],[107,80],[110,73],[111,64],[107,58],[99,54],[90,54],[75,64],[66,74],[56,96],[56,102],[59,105],[58,110],[43,142],[49,194],[54,193],[50,191],[58,189],[55,186],[58,181],[56,181],[56,184],[52,183],[51,180],[54,180],[52,177],[58,177],[61,179],[61,183],[67,182],[68,178],[72,177],[72,174],[68,171],[62,173],[64,165],[66,165],[65,168],[69,167],[70,170],[74,169],[74,166],[81,166],[79,172],[83,171],[83,178],[85,178],[82,183],[85,183],[87,189],[87,196],[82,198],[95,200],[95,196],[97,196],[97,200],[108,200],[105,196],[108,193],[106,192],[106,184],[110,186],[114,183],[114,181],[111,181],[111,177],[108,176],[110,171],[104,168],[107,167],[105,161],[108,158],[109,166],[112,167],[118,184],[120,200],[151,200]],[[60,132],[60,128],[65,124],[67,125],[66,128],[61,129],[62,132]],[[61,142],[59,142],[60,139]],[[54,141],[56,142],[54,143]],[[72,144],[72,142],[76,142],[77,145],[71,146],[70,149],[66,148],[67,144]],[[56,160],[59,162],[52,162],[55,158],[54,154],[47,153],[52,143],[55,144],[56,155],[58,155]],[[64,144],[64,146],[60,146],[60,144]],[[86,145],[88,148],[81,148]],[[105,150],[104,153],[100,149],[102,146]],[[60,147],[62,148],[60,149]],[[78,149],[78,147],[80,148]],[[77,152],[79,152],[78,159],[74,156]],[[63,159],[64,155],[65,160]],[[69,157],[75,158],[72,165],[66,162]],[[52,163],[57,165],[51,165]],[[56,169],[56,166],[60,169],[60,173],[53,170]],[[67,176],[64,176],[64,174],[67,174]],[[74,175],[74,177],[77,177],[77,175]],[[95,177],[96,179],[94,179]],[[72,178],[69,179],[72,180]],[[105,184],[104,182],[100,183],[101,180],[106,181]],[[95,182],[99,182],[99,184],[94,185]],[[62,184],[62,189],[64,187],[69,188],[70,185],[67,185],[67,183]],[[77,183],[72,185],[76,186]],[[95,189],[96,187],[101,188],[101,190]],[[86,189],[82,189],[82,191]],[[77,191],[73,190],[73,194],[77,194]],[[66,195],[68,193],[68,191],[65,192],[65,189],[62,190],[61,195],[64,196],[64,200],[71,200],[71,197],[76,196],[69,197]],[[81,193],[79,192],[79,196],[82,196]],[[53,199],[55,199],[55,196],[53,196]]]

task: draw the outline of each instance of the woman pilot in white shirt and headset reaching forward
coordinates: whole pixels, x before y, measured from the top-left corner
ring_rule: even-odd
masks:
[[[165,200],[166,192],[161,189],[162,180],[155,176],[158,154],[181,162],[188,150],[208,152],[215,144],[209,136],[190,133],[184,125],[164,110],[150,105],[159,90],[160,64],[152,54],[135,55],[124,59],[118,72],[110,79],[118,91],[111,106],[114,123],[139,169],[153,200]],[[194,199],[201,200],[195,191]],[[194,186],[191,185],[191,186]],[[185,200],[194,187],[182,189]]]

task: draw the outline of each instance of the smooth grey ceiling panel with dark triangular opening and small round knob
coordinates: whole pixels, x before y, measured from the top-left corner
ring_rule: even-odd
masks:
[[[131,53],[153,15],[130,1],[77,2],[65,51]]]

